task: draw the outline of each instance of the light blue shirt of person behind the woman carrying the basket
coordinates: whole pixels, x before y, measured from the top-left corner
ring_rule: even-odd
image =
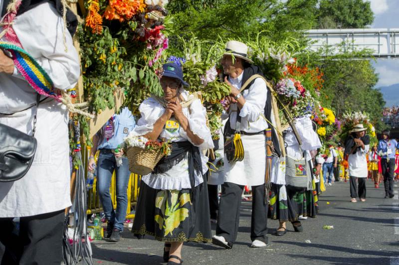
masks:
[[[108,140],[104,138],[104,140],[98,145],[98,149],[116,149],[118,145],[120,145],[124,138],[131,132],[136,126],[136,122],[134,120],[134,116],[132,112],[129,111],[127,107],[121,110],[120,114],[115,114],[113,116],[114,123],[114,134]],[[105,125],[109,125],[108,121]],[[103,127],[103,128],[104,128]]]

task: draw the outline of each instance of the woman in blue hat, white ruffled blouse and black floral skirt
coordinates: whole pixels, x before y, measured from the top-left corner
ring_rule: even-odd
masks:
[[[133,134],[169,140],[172,153],[142,177],[132,232],[165,242],[164,261],[180,264],[183,242],[211,242],[207,158],[202,150],[212,148],[213,141],[200,99],[184,89],[189,84],[182,68],[163,65],[160,83],[164,96],[152,96],[140,105]]]

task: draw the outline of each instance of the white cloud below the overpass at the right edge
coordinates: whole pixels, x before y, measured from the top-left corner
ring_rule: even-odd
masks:
[[[376,87],[385,87],[399,83],[399,60],[377,60],[374,67],[379,74]]]

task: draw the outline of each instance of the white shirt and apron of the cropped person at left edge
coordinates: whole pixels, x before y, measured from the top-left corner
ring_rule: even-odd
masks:
[[[55,87],[69,89],[78,81],[80,66],[63,23],[54,6],[45,2],[16,16],[12,27],[24,50],[44,68]],[[1,124],[31,134],[35,107],[21,110],[35,102],[35,91],[19,74],[0,73],[0,113],[19,111],[0,115]],[[0,218],[50,213],[71,205],[68,112],[64,105],[50,99],[40,103],[35,138],[37,149],[27,174],[0,184]]]

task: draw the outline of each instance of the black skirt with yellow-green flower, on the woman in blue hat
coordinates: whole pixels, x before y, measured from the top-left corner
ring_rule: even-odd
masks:
[[[182,190],[153,189],[141,181],[132,233],[164,242],[211,242],[206,179]]]

